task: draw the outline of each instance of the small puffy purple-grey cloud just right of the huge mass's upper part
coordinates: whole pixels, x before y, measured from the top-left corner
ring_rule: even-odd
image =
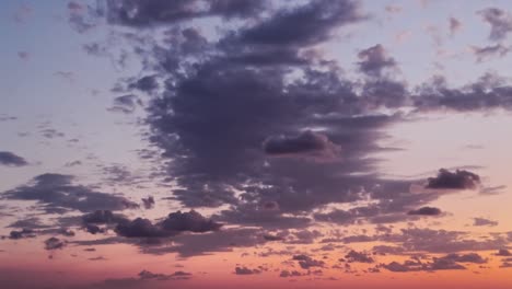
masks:
[[[359,51],[359,70],[370,77],[382,77],[384,69],[396,67],[396,61],[386,55],[380,44]]]

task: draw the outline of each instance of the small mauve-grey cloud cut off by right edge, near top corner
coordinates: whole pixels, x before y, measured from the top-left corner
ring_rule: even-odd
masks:
[[[487,8],[478,11],[478,14],[491,26],[489,39],[503,41],[512,32],[512,18],[505,11],[498,8]]]

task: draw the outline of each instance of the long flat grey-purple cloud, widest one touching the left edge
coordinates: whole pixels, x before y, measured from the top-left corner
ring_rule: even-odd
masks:
[[[3,193],[4,199],[37,200],[47,211],[74,209],[83,212],[95,210],[123,210],[136,208],[137,204],[125,197],[100,193],[89,187],[72,184],[73,176],[62,174],[42,174],[31,184]]]

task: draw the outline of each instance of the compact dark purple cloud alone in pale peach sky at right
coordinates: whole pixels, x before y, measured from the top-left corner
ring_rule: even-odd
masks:
[[[475,173],[456,170],[450,172],[446,169],[439,170],[438,176],[429,177],[427,188],[435,189],[475,189],[480,184],[480,176]]]

